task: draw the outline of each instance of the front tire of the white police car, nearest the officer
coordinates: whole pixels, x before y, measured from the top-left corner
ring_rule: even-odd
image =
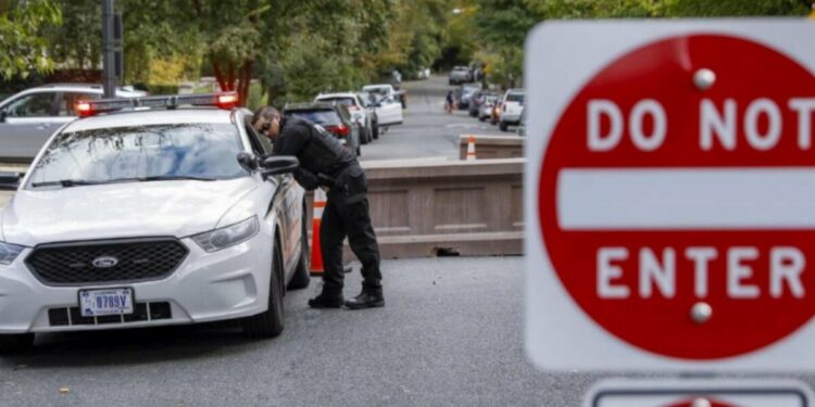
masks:
[[[272,276],[268,281],[268,308],[258,315],[243,318],[241,327],[243,334],[249,338],[275,338],[283,332],[283,254],[280,253],[280,240],[275,239],[272,251]]]

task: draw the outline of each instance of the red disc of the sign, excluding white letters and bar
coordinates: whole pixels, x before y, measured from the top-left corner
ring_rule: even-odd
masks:
[[[714,85],[700,90],[694,73],[709,68]],[[578,306],[607,332],[659,355],[682,359],[717,359],[742,355],[770,345],[791,334],[815,314],[815,230],[752,228],[675,228],[643,230],[626,228],[563,228],[559,220],[559,177],[565,169],[689,169],[689,168],[790,168],[815,167],[815,149],[799,147],[798,113],[790,99],[815,97],[813,74],[788,56],[763,44],[722,35],[673,37],[636,49],[600,71],[572,100],[554,128],[543,157],[539,185],[539,216],[546,250],[554,270]],[[590,100],[613,101],[626,125],[619,144],[610,151],[590,151],[587,143],[587,105]],[[639,101],[659,101],[666,113],[664,142],[651,151],[637,149],[629,135],[629,112]],[[712,101],[724,112],[727,100],[737,105],[737,144],[700,148],[700,103]],[[745,142],[743,117],[757,99],[768,99],[781,112],[781,136],[768,150]],[[815,122],[815,120],[813,120]],[[769,131],[767,117],[758,116],[758,133]],[[611,124],[600,122],[601,132]],[[647,119],[642,132],[651,135],[655,124]],[[803,188],[803,187],[802,187]],[[624,193],[620,191],[620,193]],[[815,211],[815,207],[813,207]],[[610,213],[605,216],[614,216]],[[684,256],[688,247],[712,247],[717,256],[709,263],[707,295],[694,293],[694,264]],[[808,259],[800,275],[805,294],[768,294],[768,257],[772,247],[799,249]],[[627,287],[625,298],[601,297],[597,262],[601,247],[623,247],[626,259],[616,262],[622,276],[613,280]],[[743,262],[752,275],[741,282],[757,287],[755,298],[728,295],[727,253],[732,247],[754,247],[755,259]],[[675,253],[675,293],[640,295],[638,253]],[[813,292],[811,292],[813,291]],[[690,315],[699,302],[713,309],[704,323]]]

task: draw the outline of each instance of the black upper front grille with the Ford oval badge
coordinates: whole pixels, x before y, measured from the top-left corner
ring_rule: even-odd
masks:
[[[59,243],[37,246],[26,264],[49,285],[143,281],[172,274],[187,253],[175,239]]]

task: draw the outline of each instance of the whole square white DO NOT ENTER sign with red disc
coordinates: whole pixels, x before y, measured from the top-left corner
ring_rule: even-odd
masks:
[[[811,368],[815,25],[557,23],[527,42],[527,348]]]

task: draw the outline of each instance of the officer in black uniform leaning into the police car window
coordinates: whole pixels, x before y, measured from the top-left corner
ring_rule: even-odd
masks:
[[[312,308],[351,309],[385,306],[379,245],[368,213],[365,173],[354,154],[325,129],[297,117],[280,117],[272,107],[261,107],[252,126],[274,143],[274,155],[294,155],[300,168],[294,179],[313,191],[323,188],[328,202],[319,226],[319,246],[325,272],[323,292],[309,300]],[[362,263],[362,293],[353,300],[342,298],[342,241],[348,236],[351,251]]]

